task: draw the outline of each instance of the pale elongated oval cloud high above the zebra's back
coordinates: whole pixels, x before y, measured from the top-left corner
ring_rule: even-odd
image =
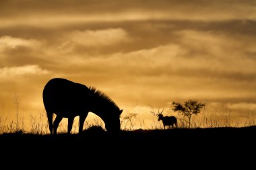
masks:
[[[121,28],[85,31],[76,30],[69,33],[67,38],[73,44],[87,47],[111,46],[131,40],[127,32]]]

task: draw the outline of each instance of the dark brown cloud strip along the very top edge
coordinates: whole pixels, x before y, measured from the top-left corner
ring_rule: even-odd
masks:
[[[2,15],[49,13],[117,13],[120,11],[166,11],[168,13],[205,13],[211,15],[212,12],[238,13],[247,11],[251,13],[255,6],[255,1],[205,1],[205,0],[160,0],[160,1],[93,1],[93,0],[75,0],[75,1],[1,1]],[[172,9],[170,11],[170,9]],[[13,11],[18,11],[16,14]],[[248,13],[246,13],[248,15]],[[195,15],[194,14],[194,15]],[[215,13],[214,13],[215,14]]]

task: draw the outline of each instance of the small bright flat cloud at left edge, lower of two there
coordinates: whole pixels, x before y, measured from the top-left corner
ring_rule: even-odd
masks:
[[[22,67],[3,67],[0,69],[1,78],[13,78],[23,75],[44,75],[49,73],[44,69],[41,69],[38,65],[24,65]]]

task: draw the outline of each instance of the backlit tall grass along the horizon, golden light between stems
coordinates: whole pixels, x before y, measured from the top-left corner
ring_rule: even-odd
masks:
[[[179,117],[178,119],[178,128],[189,128],[189,122],[185,117]],[[19,120],[21,126],[17,126],[15,121],[11,120],[9,124],[7,123],[8,118],[0,118],[0,134],[49,134],[49,124],[45,118],[45,113],[40,112],[38,116],[32,116],[30,115],[30,126],[29,128],[25,128],[24,119]],[[121,117],[121,130],[123,131],[136,131],[137,129],[141,130],[163,130],[163,124],[162,122],[158,122],[158,117],[154,115],[152,117],[152,122],[150,124],[150,128],[142,128],[141,125],[141,118],[137,114],[127,114],[126,116]],[[135,127],[136,121],[139,122],[140,126],[139,128]],[[143,120],[142,120],[143,124]],[[60,124],[59,125],[59,134],[65,133],[66,124]],[[85,132],[86,130],[94,129],[95,127],[99,127],[102,130],[105,130],[104,123],[94,118],[90,122],[85,122]],[[194,118],[193,123],[191,123],[191,129],[193,128],[244,128],[244,127],[250,127],[250,126],[256,126],[256,122],[254,117],[247,116],[247,119],[244,123],[242,122],[232,122],[230,119],[230,115],[222,116],[222,118],[214,115],[210,116],[201,116],[200,118]],[[18,127],[18,128],[17,128]],[[73,134],[77,133],[75,132],[77,130],[77,126],[73,125]],[[84,133],[84,132],[83,132]]]

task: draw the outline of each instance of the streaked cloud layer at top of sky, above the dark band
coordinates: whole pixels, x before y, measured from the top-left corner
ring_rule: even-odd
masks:
[[[226,21],[255,19],[254,1],[4,1],[0,28],[12,26],[70,26],[99,22],[148,20]],[[45,13],[47,11],[47,13]],[[19,13],[19,15],[15,15]]]

